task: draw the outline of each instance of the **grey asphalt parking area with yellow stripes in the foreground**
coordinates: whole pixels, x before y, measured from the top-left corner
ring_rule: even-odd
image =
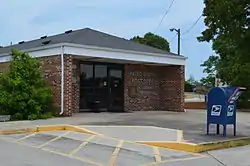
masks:
[[[188,162],[199,165],[205,161],[217,164],[204,154],[69,131],[2,135],[0,147],[0,160],[6,166],[177,166]]]

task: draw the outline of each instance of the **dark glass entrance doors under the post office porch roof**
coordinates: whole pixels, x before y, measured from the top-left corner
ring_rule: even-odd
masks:
[[[80,68],[80,110],[122,111],[123,65],[83,63]]]

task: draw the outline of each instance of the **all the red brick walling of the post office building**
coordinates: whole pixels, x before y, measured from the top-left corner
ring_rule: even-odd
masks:
[[[41,58],[53,102],[61,105],[60,55]],[[79,112],[80,66],[72,55],[64,55],[64,115]],[[0,63],[0,72],[8,63]],[[125,65],[125,111],[184,111],[184,66]],[[136,93],[131,91],[136,90]]]

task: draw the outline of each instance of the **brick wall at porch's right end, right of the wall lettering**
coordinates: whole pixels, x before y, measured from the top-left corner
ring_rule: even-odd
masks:
[[[164,66],[159,74],[161,109],[184,111],[185,66]]]

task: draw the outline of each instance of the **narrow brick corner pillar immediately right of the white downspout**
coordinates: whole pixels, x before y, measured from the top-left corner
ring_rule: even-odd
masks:
[[[64,115],[72,116],[72,55],[64,55]]]

